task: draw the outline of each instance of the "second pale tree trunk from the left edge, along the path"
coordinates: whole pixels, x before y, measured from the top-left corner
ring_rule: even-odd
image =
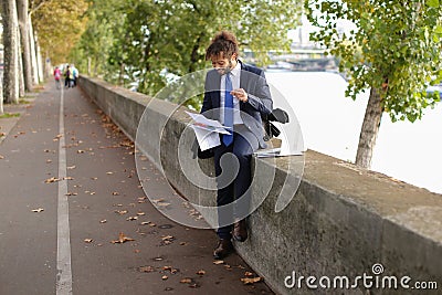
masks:
[[[17,9],[19,13],[19,27],[21,32],[21,48],[23,50],[23,77],[24,87],[27,91],[32,91],[32,67],[31,67],[31,42],[29,34],[29,14],[28,14],[28,0],[18,0]]]

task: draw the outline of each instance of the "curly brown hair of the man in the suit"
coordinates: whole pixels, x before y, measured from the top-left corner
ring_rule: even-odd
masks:
[[[228,31],[221,31],[215,34],[207,49],[206,60],[210,60],[211,56],[218,56],[221,53],[224,57],[230,59],[234,53],[236,53],[238,56],[239,52],[240,50],[234,34]]]

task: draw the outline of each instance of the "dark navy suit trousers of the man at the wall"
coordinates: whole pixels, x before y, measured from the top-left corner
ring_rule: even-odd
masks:
[[[221,138],[222,139],[222,138]],[[232,224],[249,215],[252,182],[252,154],[259,141],[244,125],[235,125],[233,143],[214,149],[217,206],[220,239],[231,239]],[[238,173],[235,175],[235,172]]]

